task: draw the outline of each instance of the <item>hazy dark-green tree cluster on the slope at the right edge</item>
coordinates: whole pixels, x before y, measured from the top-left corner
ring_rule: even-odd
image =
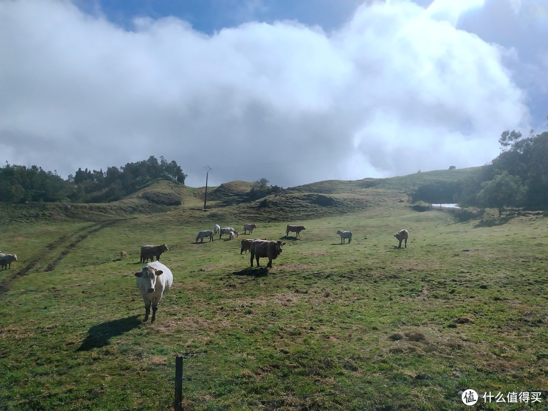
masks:
[[[432,182],[411,194],[412,201],[458,203],[461,207],[548,208],[548,132],[506,130],[500,135],[500,155],[478,169],[471,179]]]

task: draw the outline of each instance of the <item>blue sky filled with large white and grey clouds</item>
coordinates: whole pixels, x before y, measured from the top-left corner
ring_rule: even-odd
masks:
[[[186,185],[474,167],[546,130],[548,0],[3,0],[0,162]]]

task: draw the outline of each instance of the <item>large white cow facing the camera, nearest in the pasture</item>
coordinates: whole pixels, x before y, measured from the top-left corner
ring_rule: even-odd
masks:
[[[135,277],[137,277],[137,287],[141,290],[142,300],[145,302],[143,321],[149,321],[150,306],[152,305],[150,322],[153,323],[156,319],[158,302],[173,284],[173,273],[161,262],[153,261],[145,264],[141,271],[135,273]]]

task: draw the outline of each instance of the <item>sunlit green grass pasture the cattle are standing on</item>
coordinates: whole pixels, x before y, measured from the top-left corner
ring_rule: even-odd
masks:
[[[173,409],[178,355],[184,409],[548,408],[548,220],[415,212],[408,185],[455,175],[434,173],[294,187],[265,208],[213,194],[204,212],[186,187],[180,207],[3,205],[0,250],[19,261],[0,271],[0,409]],[[287,243],[271,270],[239,254],[250,236],[193,243],[244,222]],[[142,323],[139,248],[161,243],[174,284]],[[466,407],[466,389],[541,401]]]

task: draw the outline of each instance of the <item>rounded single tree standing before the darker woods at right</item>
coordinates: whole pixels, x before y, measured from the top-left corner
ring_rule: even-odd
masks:
[[[482,207],[493,207],[503,214],[504,207],[518,206],[523,201],[526,187],[521,179],[504,171],[495,175],[493,180],[485,181],[478,193],[478,201]]]

